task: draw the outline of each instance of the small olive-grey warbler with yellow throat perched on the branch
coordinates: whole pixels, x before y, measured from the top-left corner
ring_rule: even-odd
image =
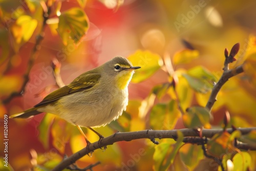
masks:
[[[90,144],[80,126],[88,127],[102,139],[103,136],[91,127],[106,125],[122,114],[128,104],[128,84],[134,70],[139,68],[133,67],[126,58],[117,56],[79,75],[33,108],[10,118],[29,118],[44,112],[55,114],[76,125]]]

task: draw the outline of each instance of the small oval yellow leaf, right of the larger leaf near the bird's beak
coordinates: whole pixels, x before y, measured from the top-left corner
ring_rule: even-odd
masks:
[[[199,52],[197,50],[185,49],[185,50],[182,50],[181,52],[175,53],[173,57],[173,63],[174,65],[189,63],[190,61],[198,57],[199,57]]]

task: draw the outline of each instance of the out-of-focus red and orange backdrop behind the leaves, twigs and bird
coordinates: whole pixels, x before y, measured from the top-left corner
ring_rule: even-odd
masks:
[[[37,19],[37,26],[32,36],[17,48],[13,42],[15,35],[10,31],[13,23],[6,25],[8,20],[6,18],[10,20],[12,15],[22,13],[38,18],[42,13],[40,4],[38,3],[34,11],[31,11],[27,7],[28,2],[0,1],[2,19],[0,95],[2,99],[22,87],[36,36],[42,26],[42,19]],[[77,1],[62,1],[61,4],[60,12],[79,7]],[[241,65],[246,55],[253,53],[252,51],[255,52],[253,47],[256,42],[254,38],[255,8],[256,2],[253,0],[246,2],[88,0],[83,8],[90,21],[86,36],[78,46],[73,44],[65,46],[54,27],[47,26],[45,37],[37,51],[38,56],[29,73],[30,80],[26,91],[23,96],[15,97],[7,104],[1,104],[1,121],[4,114],[12,115],[31,108],[45,95],[55,90],[50,88],[46,94],[35,96],[49,85],[55,84],[51,68],[53,58],[61,63],[60,75],[63,82],[67,84],[79,74],[102,65],[115,56],[129,57],[138,50],[147,50],[160,57],[168,54],[170,59],[173,59],[178,52],[190,49],[197,50],[199,56],[189,63],[174,66],[174,69],[189,70],[195,66],[203,66],[219,78],[222,74],[225,48],[230,50],[234,44],[240,42],[237,61],[231,64],[231,68]],[[132,119],[138,118],[136,114],[139,113],[139,102],[150,95],[153,87],[168,80],[166,71],[160,69],[152,77],[140,83],[130,84],[129,97],[132,102],[129,103],[131,106],[127,108],[127,113],[133,113]],[[227,83],[226,89],[230,87],[232,90],[228,89],[229,92],[223,91],[219,95],[222,100],[212,111],[214,115],[212,126],[221,125],[223,113],[227,109],[231,118],[237,117],[237,120],[233,120],[233,124],[255,125],[256,118],[253,116],[256,106],[255,87],[243,76],[232,78]],[[196,95],[191,99],[191,104],[200,103]],[[164,101],[162,99],[158,102]],[[125,118],[120,119],[122,122]],[[47,124],[42,125],[42,120]],[[126,131],[150,129],[151,127],[144,122],[142,119],[132,120],[130,129]],[[178,118],[172,129],[183,127],[181,119]],[[3,126],[1,126],[0,137],[4,139],[2,129]],[[9,119],[8,130],[9,164],[14,170],[30,170],[36,164],[51,168],[61,161],[63,154],[69,156],[86,146],[86,142],[74,126],[51,115],[48,118],[45,114],[41,114],[26,120]],[[113,129],[113,126],[105,126],[97,131],[106,137],[118,130]],[[84,129],[84,132],[87,130]],[[90,141],[97,141],[97,136],[89,133]],[[139,155],[139,161],[134,160],[132,156],[138,154],[141,149],[144,153]],[[4,147],[1,145],[0,156],[4,156],[3,152]],[[149,140],[142,139],[118,142],[108,146],[105,152],[95,151],[92,157],[85,156],[77,163],[84,167],[100,161],[101,164],[93,170],[153,170],[153,154],[154,145]],[[127,165],[128,169],[125,167]],[[203,165],[207,165],[204,168],[208,170],[216,168],[209,165],[209,159],[203,159],[201,166]],[[200,166],[197,166],[197,169],[200,170]]]

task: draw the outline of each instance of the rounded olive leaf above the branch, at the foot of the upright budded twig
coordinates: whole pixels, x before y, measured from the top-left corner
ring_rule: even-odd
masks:
[[[193,106],[186,110],[186,113],[182,116],[183,123],[186,127],[196,128],[204,126],[210,127],[211,114],[209,110],[201,106]]]

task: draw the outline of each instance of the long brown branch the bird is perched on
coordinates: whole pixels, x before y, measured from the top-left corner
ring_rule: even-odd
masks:
[[[237,129],[241,132],[242,135],[248,134],[252,130],[256,130],[256,127],[249,127],[249,128],[240,128]],[[106,145],[112,145],[115,142],[119,141],[132,141],[135,139],[153,139],[153,138],[172,138],[177,139],[178,134],[177,132],[181,131],[184,137],[198,137],[198,134],[192,129],[181,129],[181,130],[144,130],[144,131],[136,131],[136,132],[125,132],[125,133],[115,133],[109,137],[103,138],[100,141],[100,145],[98,145],[98,141],[90,144],[89,146],[81,149],[80,151],[76,152],[75,154],[71,155],[70,157],[62,160],[54,169],[53,171],[62,170],[68,167],[70,164],[75,163],[81,157],[92,153],[95,149],[104,147]],[[232,129],[226,130],[228,133],[232,133]],[[217,133],[223,132],[223,129],[212,129],[202,130],[202,136],[206,138],[211,138]],[[248,145],[248,144],[247,144]]]

